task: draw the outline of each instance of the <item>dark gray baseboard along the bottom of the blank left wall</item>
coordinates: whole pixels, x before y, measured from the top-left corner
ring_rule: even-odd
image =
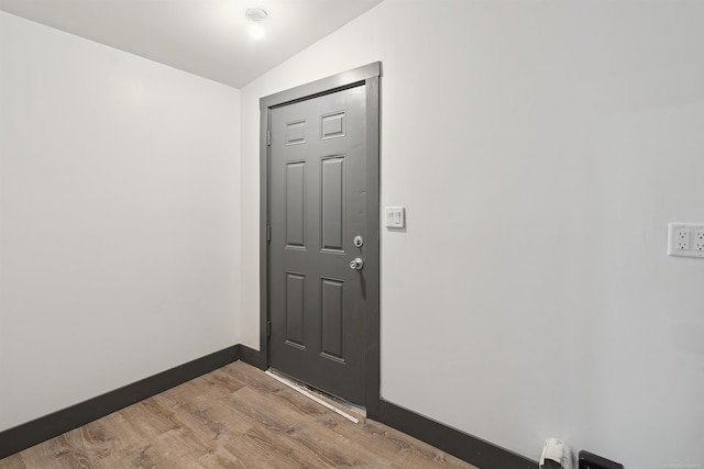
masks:
[[[222,368],[240,359],[241,351],[242,347],[234,345],[70,407],[0,432],[0,442],[2,442],[2,445],[0,445],[0,459],[86,425],[167,389],[183,384],[201,375]]]

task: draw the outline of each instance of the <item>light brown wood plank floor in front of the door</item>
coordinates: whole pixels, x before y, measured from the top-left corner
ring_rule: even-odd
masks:
[[[0,460],[10,468],[474,468],[242,361]]]

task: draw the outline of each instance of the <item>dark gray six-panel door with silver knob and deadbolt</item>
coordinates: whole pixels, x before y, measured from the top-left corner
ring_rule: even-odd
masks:
[[[365,86],[274,108],[270,365],[364,405]]]

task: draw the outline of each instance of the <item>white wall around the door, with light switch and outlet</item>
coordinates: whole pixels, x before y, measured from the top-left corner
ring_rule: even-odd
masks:
[[[666,256],[669,221],[704,222],[702,24],[698,1],[386,0],[245,87],[243,342],[258,99],[381,59],[382,203],[408,216],[382,237],[383,398],[534,459],[558,436],[704,465],[704,263]]]

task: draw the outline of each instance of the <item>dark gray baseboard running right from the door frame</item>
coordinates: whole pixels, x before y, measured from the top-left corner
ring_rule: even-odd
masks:
[[[384,400],[380,422],[482,469],[538,469],[536,461]]]

